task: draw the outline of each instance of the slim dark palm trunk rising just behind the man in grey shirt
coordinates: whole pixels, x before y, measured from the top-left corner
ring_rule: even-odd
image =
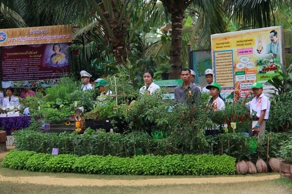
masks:
[[[175,9],[171,14],[171,48],[170,64],[173,64],[169,71],[169,79],[179,79],[182,69],[182,48],[183,48],[183,13],[182,9]]]

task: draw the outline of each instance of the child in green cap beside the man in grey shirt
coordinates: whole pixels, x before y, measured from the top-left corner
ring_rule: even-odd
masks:
[[[214,111],[221,110],[225,108],[224,101],[220,95],[221,86],[217,83],[212,83],[206,86],[209,89],[210,95],[212,98],[208,101],[208,105],[212,107]],[[214,128],[206,128],[205,135],[217,135],[221,133],[219,130],[219,126],[215,126]]]

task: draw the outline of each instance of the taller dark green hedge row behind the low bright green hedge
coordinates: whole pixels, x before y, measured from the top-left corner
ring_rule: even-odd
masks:
[[[59,154],[73,154],[77,156],[100,155],[132,157],[134,155],[169,155],[169,154],[227,154],[236,158],[250,160],[254,151],[250,148],[255,137],[243,133],[224,133],[217,136],[203,136],[206,144],[196,141],[198,137],[185,135],[183,139],[171,135],[164,139],[152,139],[147,133],[132,132],[127,134],[106,133],[88,130],[89,133],[39,133],[33,130],[19,130],[13,133],[17,150],[35,151],[38,153],[52,153],[53,148],[59,148]],[[183,133],[183,132],[180,132]],[[269,146],[268,146],[269,135]],[[292,138],[292,133],[266,133],[262,143],[256,148],[256,155],[266,159],[276,157],[282,141]],[[269,152],[267,151],[269,147]]]

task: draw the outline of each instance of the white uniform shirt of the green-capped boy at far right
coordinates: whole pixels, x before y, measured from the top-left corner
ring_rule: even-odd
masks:
[[[260,116],[260,112],[262,110],[266,110],[264,119],[265,120],[269,119],[271,103],[267,96],[264,95],[264,93],[262,93],[258,98],[257,97],[253,98],[252,101],[246,103],[245,105],[250,109],[251,114],[253,113],[253,111],[256,111],[256,117],[258,118]]]

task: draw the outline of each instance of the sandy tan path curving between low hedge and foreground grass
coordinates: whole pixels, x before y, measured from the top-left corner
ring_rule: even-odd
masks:
[[[7,149],[14,147],[7,146]],[[3,159],[8,152],[0,153]],[[109,180],[109,179],[86,179],[86,178],[58,178],[54,176],[19,176],[18,178],[2,176],[0,182],[12,181],[18,183],[60,185],[60,186],[146,186],[146,185],[173,185],[173,184],[206,184],[206,183],[236,183],[248,181],[273,180],[280,175],[267,176],[244,176],[244,177],[210,177],[210,178],[155,178],[141,180]]]

